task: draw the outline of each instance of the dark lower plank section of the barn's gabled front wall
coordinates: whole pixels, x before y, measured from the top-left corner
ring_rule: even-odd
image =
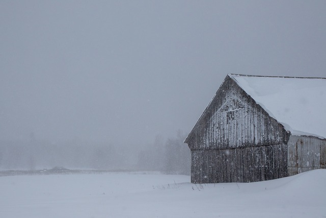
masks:
[[[192,150],[192,183],[256,182],[287,176],[287,146]]]

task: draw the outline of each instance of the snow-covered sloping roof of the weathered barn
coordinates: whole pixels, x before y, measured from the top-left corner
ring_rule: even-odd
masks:
[[[326,78],[229,77],[292,135],[326,138]]]

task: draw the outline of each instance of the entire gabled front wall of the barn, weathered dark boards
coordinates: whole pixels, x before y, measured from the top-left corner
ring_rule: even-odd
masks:
[[[192,182],[287,176],[288,133],[232,79],[216,92],[195,128],[187,142],[192,150]]]

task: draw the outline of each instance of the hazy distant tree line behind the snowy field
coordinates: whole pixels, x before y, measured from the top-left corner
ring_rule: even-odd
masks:
[[[114,146],[108,143],[50,143],[34,137],[29,142],[0,141],[0,169],[43,169],[55,166],[108,171],[158,171],[190,173],[190,151],[178,131],[165,140],[156,136],[145,146]]]

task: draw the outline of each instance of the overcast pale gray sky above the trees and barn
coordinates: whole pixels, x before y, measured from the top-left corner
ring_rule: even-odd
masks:
[[[228,73],[326,77],[326,1],[0,1],[0,140],[189,132]]]

